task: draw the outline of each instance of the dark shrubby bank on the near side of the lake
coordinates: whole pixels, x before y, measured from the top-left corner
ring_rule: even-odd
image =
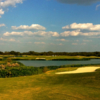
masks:
[[[20,62],[7,62],[0,65],[0,78],[9,78],[9,77],[19,77],[19,76],[28,76],[28,75],[37,75],[42,74],[50,70],[56,70],[58,68],[76,68],[83,66],[100,66],[98,64],[73,64],[73,65],[62,65],[62,66],[25,66]]]

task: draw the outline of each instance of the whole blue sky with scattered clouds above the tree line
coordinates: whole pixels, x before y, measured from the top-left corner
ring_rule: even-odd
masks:
[[[100,0],[0,0],[0,51],[100,51]]]

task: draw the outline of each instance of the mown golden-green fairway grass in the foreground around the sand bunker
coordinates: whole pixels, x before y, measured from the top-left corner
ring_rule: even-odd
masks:
[[[55,74],[75,69],[77,67],[60,68],[33,76],[0,78],[0,100],[99,100],[100,70]]]

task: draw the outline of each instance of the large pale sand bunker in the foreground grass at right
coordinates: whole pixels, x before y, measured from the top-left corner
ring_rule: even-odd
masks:
[[[75,73],[88,73],[88,72],[95,72],[96,69],[100,67],[80,67],[74,71],[67,71],[67,72],[57,72],[55,74],[75,74]]]

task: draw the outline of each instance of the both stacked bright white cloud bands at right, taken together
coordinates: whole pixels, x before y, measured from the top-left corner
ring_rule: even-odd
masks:
[[[67,36],[98,36],[100,35],[100,24],[93,23],[72,23],[62,27],[62,29],[70,29],[72,31],[64,31],[60,34],[62,37]]]

